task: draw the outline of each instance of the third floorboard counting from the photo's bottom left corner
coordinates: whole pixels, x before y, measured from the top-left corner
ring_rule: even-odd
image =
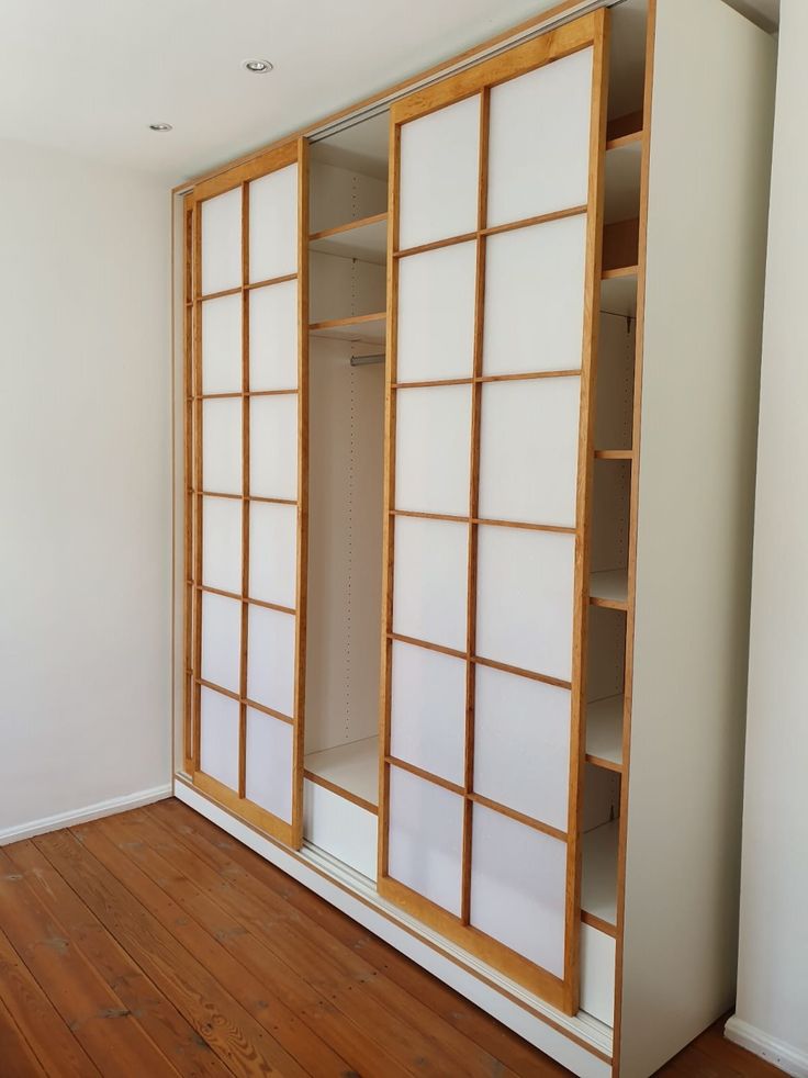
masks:
[[[11,945],[102,1074],[178,1071],[0,850],[0,908]]]

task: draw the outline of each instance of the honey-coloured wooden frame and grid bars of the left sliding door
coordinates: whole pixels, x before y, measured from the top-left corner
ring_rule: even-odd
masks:
[[[298,168],[298,269],[294,273],[266,281],[249,280],[249,184],[271,172],[296,165]],[[184,199],[187,233],[186,285],[186,700],[184,760],[193,784],[206,796],[233,811],[265,833],[298,849],[303,831],[303,728],[305,711],[305,609],[307,560],[307,391],[308,391],[308,246],[307,203],[308,146],[301,137],[262,155],[249,165],[200,183]],[[240,271],[242,283],[218,292],[202,291],[201,205],[231,190],[242,192]],[[271,288],[287,281],[298,282],[298,388],[252,391],[249,383],[249,296],[258,288]],[[229,393],[203,392],[202,384],[202,304],[223,295],[242,296],[242,389]],[[298,497],[258,497],[250,492],[250,401],[254,397],[295,395],[298,397]],[[207,400],[242,401],[242,492],[207,491],[202,474],[203,406]],[[221,497],[242,504],[240,594],[206,586],[202,573],[202,514],[204,498]],[[295,605],[282,606],[255,599],[249,594],[250,505],[261,502],[296,507]],[[221,595],[240,603],[240,640],[238,692],[224,688],[202,677],[202,598]],[[247,695],[247,654],[250,606],[277,610],[295,618],[293,715],[284,715],[249,699]],[[231,789],[200,768],[200,711],[202,688],[209,688],[238,704],[238,788]],[[246,798],[247,708],[260,711],[293,728],[291,823]]]

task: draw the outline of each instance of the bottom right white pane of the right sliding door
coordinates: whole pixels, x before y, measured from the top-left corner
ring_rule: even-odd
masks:
[[[566,843],[475,805],[472,925],[563,977],[565,896]]]

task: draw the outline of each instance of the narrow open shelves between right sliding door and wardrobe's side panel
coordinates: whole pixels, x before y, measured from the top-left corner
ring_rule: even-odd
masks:
[[[597,807],[594,817],[592,805],[584,812],[581,894],[582,922],[602,941],[617,936],[622,827],[620,791],[631,595],[628,546],[636,450],[636,326],[641,188],[647,151],[640,75],[640,68],[636,67],[631,71],[618,69],[613,78],[604,162],[590,572],[591,697],[585,717],[583,791],[584,801]],[[611,951],[607,947],[606,953]]]

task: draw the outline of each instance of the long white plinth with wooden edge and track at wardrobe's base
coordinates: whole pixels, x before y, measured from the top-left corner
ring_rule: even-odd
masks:
[[[300,853],[287,850],[231,816],[181,779],[175,783],[175,796],[546,1052],[579,1078],[611,1078],[611,1064],[593,1055],[593,1052],[605,1056],[611,1054],[611,1030],[601,1022],[584,1014],[570,1018],[556,1011],[380,899],[370,880],[364,880],[359,873],[340,866],[327,855],[311,847],[304,847]],[[453,953],[457,953],[459,961],[449,957]],[[481,976],[475,976],[474,969],[479,969]],[[485,980],[481,977],[485,977]],[[502,985],[502,990],[495,985]],[[524,1000],[524,1004],[517,1000]],[[585,1044],[591,1045],[592,1051],[584,1047]]]

